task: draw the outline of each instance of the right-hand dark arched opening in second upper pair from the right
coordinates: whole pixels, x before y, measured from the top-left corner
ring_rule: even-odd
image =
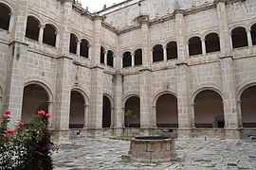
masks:
[[[217,33],[210,33],[206,36],[206,52],[220,51],[220,40]]]

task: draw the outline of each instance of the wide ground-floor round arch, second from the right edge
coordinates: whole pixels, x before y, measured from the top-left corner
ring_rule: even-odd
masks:
[[[202,87],[192,94],[192,127],[225,127],[223,94],[216,87]]]

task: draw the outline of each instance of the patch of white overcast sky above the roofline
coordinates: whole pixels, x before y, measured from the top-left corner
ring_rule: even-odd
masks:
[[[114,3],[118,4],[124,0],[80,0],[82,2],[82,7],[89,8],[90,12],[99,11],[103,8],[104,4],[108,7],[112,6]]]

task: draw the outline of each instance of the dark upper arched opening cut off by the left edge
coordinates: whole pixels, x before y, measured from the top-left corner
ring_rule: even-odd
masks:
[[[0,11],[0,28],[9,30],[10,9],[6,5],[0,3]]]

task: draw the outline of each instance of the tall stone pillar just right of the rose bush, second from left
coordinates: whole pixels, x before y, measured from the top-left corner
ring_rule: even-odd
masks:
[[[70,85],[72,73],[72,59],[69,58],[70,18],[72,1],[65,0],[63,6],[62,35],[60,38],[60,58],[57,59],[57,79],[55,93],[55,113],[52,115],[52,127],[56,129],[53,140],[65,142],[69,140],[69,111],[70,111]]]

